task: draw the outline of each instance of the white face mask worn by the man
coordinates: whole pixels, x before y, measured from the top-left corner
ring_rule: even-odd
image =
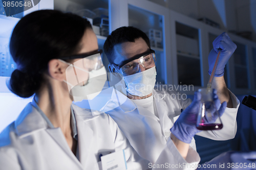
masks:
[[[154,66],[134,75],[124,76],[126,91],[140,97],[152,93],[156,83],[156,75],[156,66]]]

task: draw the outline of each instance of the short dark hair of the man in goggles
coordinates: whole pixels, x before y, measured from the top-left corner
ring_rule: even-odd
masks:
[[[106,41],[104,43],[104,53],[106,54],[106,57],[108,58],[110,63],[113,63],[114,61],[114,46],[116,44],[120,44],[123,42],[135,42],[136,39],[142,38],[147,46],[150,47],[150,39],[146,36],[146,34],[141,31],[140,29],[134,28],[134,27],[120,27],[113,31],[108,38],[106,38]]]

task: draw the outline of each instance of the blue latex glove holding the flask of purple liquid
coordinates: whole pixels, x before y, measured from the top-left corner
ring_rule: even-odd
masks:
[[[217,119],[218,113],[216,112],[216,108],[219,107],[220,100],[218,99],[217,90],[214,89],[212,92],[214,93],[213,96],[215,102],[214,116]],[[193,102],[180,114],[179,118],[174,123],[174,126],[170,129],[170,132],[172,132],[179,140],[185,143],[190,143],[195,134],[200,132],[200,130],[196,128],[200,104],[201,93],[196,91]],[[223,102],[219,109],[220,116],[224,113],[226,107],[227,103]]]

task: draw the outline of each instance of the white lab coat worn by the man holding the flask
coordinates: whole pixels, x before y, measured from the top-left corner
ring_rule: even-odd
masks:
[[[119,100],[126,98],[121,92],[117,94]],[[133,148],[141,157],[149,160],[151,163],[155,163],[159,160],[159,155],[163,148],[166,147],[166,141],[170,138],[170,128],[173,127],[174,122],[178,119],[181,109],[185,109],[191,103],[190,99],[178,100],[178,98],[176,98],[176,100],[170,100],[167,96],[171,94],[176,95],[177,92],[167,92],[164,89],[153,90],[154,102],[159,118],[148,112],[145,108],[136,106],[136,104],[128,98],[126,98],[126,101],[120,105],[120,107],[116,106],[117,103],[114,100],[109,101],[105,106],[106,110],[110,110],[106,113],[115,120]],[[225,109],[221,117],[223,129],[218,131],[202,131],[198,133],[198,135],[214,140],[227,140],[236,135],[236,117],[240,103],[232,92],[229,91],[229,94],[234,108]],[[113,109],[111,110],[110,108]],[[141,124],[139,122],[143,123]],[[147,125],[147,127],[145,127],[145,125]],[[190,143],[190,147],[196,151],[194,138]],[[193,153],[194,155],[192,154],[190,156],[196,157],[197,152]]]

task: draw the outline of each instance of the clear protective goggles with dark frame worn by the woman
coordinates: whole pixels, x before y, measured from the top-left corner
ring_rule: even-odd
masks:
[[[87,71],[97,70],[103,67],[102,50],[95,50],[90,53],[83,53],[68,57],[62,57],[61,60],[81,59],[74,63],[74,66],[84,68]]]

